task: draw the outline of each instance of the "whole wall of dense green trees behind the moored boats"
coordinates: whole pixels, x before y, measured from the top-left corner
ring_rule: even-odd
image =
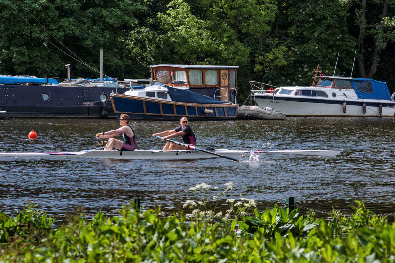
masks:
[[[323,74],[395,91],[395,0],[0,0],[0,75],[148,78],[155,64],[237,65],[248,81]],[[240,93],[239,93],[240,94]],[[241,95],[240,94],[240,95]]]

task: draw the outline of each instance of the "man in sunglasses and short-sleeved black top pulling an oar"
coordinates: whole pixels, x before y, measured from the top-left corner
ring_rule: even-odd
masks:
[[[196,143],[195,133],[192,130],[192,128],[188,125],[188,119],[186,117],[182,117],[180,119],[180,125],[181,126],[178,126],[173,130],[154,133],[152,137],[158,135],[158,136],[162,136],[162,140],[166,140],[167,138],[174,138],[181,136],[186,145],[190,145],[190,144],[195,145]],[[190,150],[190,149],[182,145],[174,144],[172,142],[167,142],[166,145],[163,147],[163,151],[165,150]]]

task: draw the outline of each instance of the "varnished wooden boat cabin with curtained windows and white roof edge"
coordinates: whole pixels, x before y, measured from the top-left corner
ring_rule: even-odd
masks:
[[[188,88],[198,94],[235,102],[238,66],[172,65],[151,66],[151,78],[167,86]]]

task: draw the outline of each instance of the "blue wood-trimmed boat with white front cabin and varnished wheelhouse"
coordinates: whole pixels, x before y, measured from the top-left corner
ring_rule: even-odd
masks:
[[[119,118],[132,119],[235,119],[237,66],[154,65],[149,84],[111,95]],[[122,82],[122,84],[125,84]]]

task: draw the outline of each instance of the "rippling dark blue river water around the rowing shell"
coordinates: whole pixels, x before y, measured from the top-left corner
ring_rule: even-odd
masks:
[[[161,149],[151,136],[177,121],[131,121],[138,149]],[[191,121],[200,148],[231,150],[344,149],[334,158],[260,156],[258,162],[223,158],[198,161],[66,158],[0,159],[0,210],[16,214],[32,201],[50,215],[82,210],[117,215],[131,198],[145,208],[176,212],[190,187],[233,182],[221,196],[254,199],[258,210],[282,206],[288,196],[302,211],[327,215],[352,212],[355,200],[377,214],[395,211],[394,118],[288,118],[281,121]],[[97,147],[95,134],[119,127],[118,120],[1,119],[0,152],[79,151]],[[38,138],[28,139],[34,129]],[[218,191],[209,192],[216,195]],[[211,198],[211,197],[207,197]]]

